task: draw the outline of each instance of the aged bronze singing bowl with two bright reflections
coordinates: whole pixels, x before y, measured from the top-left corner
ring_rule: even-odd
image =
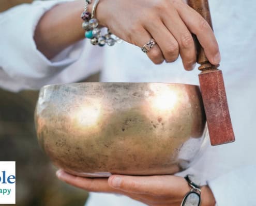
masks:
[[[35,124],[52,162],[85,177],[177,173],[206,131],[199,87],[172,83],[47,85]]]

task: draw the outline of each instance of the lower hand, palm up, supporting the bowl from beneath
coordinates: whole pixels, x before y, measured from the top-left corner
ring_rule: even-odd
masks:
[[[82,178],[67,174],[63,170],[58,170],[56,175],[58,179],[86,191],[123,194],[150,206],[180,206],[191,189],[184,178],[171,175]],[[201,205],[214,206],[215,199],[209,187],[203,186],[201,191]]]

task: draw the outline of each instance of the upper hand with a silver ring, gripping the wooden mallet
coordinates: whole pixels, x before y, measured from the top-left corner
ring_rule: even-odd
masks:
[[[150,38],[157,45],[147,53],[156,64],[182,57],[186,70],[196,62],[194,33],[208,60],[219,64],[218,43],[212,28],[202,16],[182,0],[101,0],[96,17],[119,38],[142,47]]]

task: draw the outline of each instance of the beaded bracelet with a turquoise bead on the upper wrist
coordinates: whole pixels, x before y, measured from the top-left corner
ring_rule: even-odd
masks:
[[[95,0],[92,14],[89,13],[88,5],[92,3],[92,0],[85,0],[84,11],[81,14],[82,20],[84,20],[82,27],[85,30],[85,38],[91,39],[93,45],[104,46],[106,43],[109,46],[113,46],[116,42],[121,43],[123,40],[113,35],[109,29],[105,35],[101,35],[101,29],[98,27],[98,20],[95,18],[95,11],[99,4],[99,0]]]

